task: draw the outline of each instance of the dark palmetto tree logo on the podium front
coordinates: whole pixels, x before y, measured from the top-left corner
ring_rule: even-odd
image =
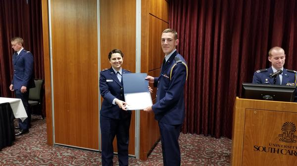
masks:
[[[296,125],[292,122],[285,122],[282,126],[282,133],[279,134],[279,140],[287,143],[296,142],[297,135],[294,134],[295,132]]]

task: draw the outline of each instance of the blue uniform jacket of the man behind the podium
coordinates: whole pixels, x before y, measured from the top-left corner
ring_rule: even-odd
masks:
[[[273,84],[274,78],[269,78],[269,74],[273,73],[272,67],[260,69],[254,72],[252,83],[258,84]],[[282,85],[296,86],[297,73],[294,70],[283,70]],[[297,102],[297,94],[295,96]]]

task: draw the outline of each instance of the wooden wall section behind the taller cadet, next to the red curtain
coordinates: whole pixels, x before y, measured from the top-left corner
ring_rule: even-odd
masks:
[[[161,33],[169,27],[168,14],[169,4],[166,0],[142,0],[141,71],[154,77],[159,76],[164,58]],[[150,86],[152,87],[152,84]],[[155,92],[156,88],[153,88],[151,94],[153,102],[155,102]],[[140,159],[147,160],[160,134],[153,113],[141,111],[140,116]]]

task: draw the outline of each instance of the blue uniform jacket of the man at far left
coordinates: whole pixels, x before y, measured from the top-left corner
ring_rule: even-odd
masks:
[[[20,90],[22,86],[30,88],[35,87],[34,83],[34,58],[31,52],[23,49],[17,56],[14,53],[12,56],[13,77],[11,84],[14,90]]]

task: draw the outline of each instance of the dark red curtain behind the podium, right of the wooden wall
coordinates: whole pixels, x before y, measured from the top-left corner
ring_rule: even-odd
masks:
[[[170,0],[169,25],[189,66],[183,133],[232,135],[241,84],[270,66],[281,46],[285,68],[297,70],[296,0]],[[295,64],[295,65],[294,65]]]

